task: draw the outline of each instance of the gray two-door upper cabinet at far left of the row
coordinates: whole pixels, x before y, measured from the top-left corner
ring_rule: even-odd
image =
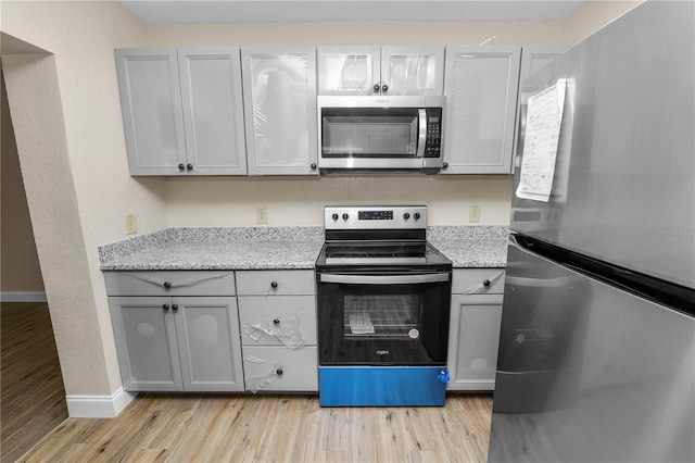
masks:
[[[244,175],[238,49],[115,51],[130,175]]]

